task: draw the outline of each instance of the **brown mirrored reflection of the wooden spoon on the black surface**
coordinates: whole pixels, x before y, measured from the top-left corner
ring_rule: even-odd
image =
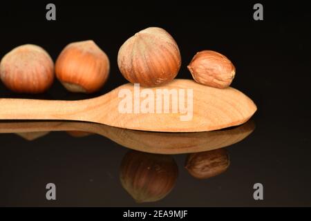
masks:
[[[222,148],[245,139],[255,124],[249,121],[241,126],[220,131],[200,133],[159,133],[133,131],[104,124],[86,122],[0,122],[0,133],[26,133],[38,131],[85,131],[108,137],[113,142],[148,153],[196,153]]]

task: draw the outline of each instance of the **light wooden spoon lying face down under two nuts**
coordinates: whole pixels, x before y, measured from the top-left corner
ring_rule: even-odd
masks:
[[[140,88],[140,91],[144,88]],[[256,105],[234,88],[212,88],[189,79],[175,79],[164,86],[149,88],[154,95],[158,89],[193,90],[191,120],[182,121],[185,113],[120,113],[120,91],[134,95],[133,84],[124,84],[111,92],[79,101],[48,101],[36,99],[0,99],[0,119],[57,119],[95,122],[142,131],[198,132],[214,131],[246,122],[256,111]],[[187,97],[185,98],[187,99]],[[156,99],[155,99],[156,100]]]

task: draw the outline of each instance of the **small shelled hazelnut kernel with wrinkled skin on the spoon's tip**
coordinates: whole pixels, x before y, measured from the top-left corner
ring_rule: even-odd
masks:
[[[212,50],[196,53],[188,69],[196,82],[215,88],[227,88],[236,74],[232,62]]]

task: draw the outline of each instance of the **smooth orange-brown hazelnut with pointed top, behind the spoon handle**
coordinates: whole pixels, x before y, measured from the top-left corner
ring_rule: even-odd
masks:
[[[94,41],[68,44],[55,64],[56,77],[75,93],[94,93],[109,76],[109,58]]]

